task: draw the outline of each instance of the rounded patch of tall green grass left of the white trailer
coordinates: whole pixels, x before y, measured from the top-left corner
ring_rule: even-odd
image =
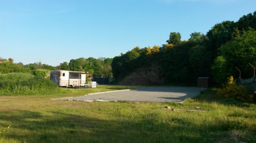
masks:
[[[51,80],[29,73],[0,74],[0,95],[46,95],[61,92]]]

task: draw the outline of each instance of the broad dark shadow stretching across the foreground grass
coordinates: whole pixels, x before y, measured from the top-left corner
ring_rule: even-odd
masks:
[[[195,125],[181,117],[161,120],[157,112],[139,120],[99,120],[59,111],[41,115],[16,110],[1,112],[0,120],[12,123],[4,135],[6,142],[215,142],[230,129],[245,128],[242,122],[224,120],[210,125]]]

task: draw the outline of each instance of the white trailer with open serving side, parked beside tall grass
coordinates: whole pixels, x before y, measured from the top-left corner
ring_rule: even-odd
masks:
[[[79,71],[52,70],[50,79],[59,87],[85,87],[86,74]]]

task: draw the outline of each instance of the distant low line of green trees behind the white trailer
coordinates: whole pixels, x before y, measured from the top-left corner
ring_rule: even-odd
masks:
[[[33,75],[44,73],[45,75],[44,70],[73,70],[111,78],[113,76],[112,60],[113,58],[77,58],[54,67],[41,62],[24,65],[23,63],[14,63],[13,58],[9,58],[9,60],[0,58],[0,73],[31,73]]]

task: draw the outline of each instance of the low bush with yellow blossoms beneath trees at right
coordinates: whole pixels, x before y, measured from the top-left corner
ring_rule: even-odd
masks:
[[[227,84],[223,88],[213,88],[217,91],[217,95],[223,98],[233,98],[242,102],[252,102],[253,96],[248,92],[244,85],[237,85],[233,76],[228,78]]]

